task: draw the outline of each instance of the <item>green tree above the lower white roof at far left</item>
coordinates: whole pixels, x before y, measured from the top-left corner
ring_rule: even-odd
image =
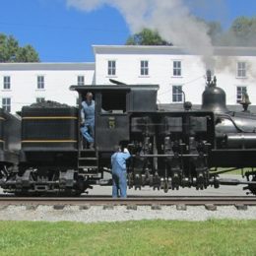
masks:
[[[21,47],[12,36],[0,33],[0,62],[38,62],[38,53],[32,45]]]

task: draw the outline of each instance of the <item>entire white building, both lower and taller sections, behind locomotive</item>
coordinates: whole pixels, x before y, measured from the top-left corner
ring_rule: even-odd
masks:
[[[200,104],[211,68],[226,103],[238,105],[247,90],[256,104],[256,48],[217,47],[211,67],[203,57],[174,46],[95,45],[95,63],[0,64],[1,101],[15,112],[23,105],[45,99],[76,105],[70,85],[106,85],[109,79],[127,84],[159,84],[161,104],[181,103],[183,96]],[[146,98],[147,100],[147,98]]]

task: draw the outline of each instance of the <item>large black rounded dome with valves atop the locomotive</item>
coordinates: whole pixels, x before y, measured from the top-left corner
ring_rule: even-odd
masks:
[[[225,93],[216,86],[217,79],[212,81],[211,71],[207,71],[207,87],[203,93],[202,109],[213,112],[226,112]]]

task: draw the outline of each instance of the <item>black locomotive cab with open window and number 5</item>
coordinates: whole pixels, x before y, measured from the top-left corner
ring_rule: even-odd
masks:
[[[79,102],[88,92],[96,102],[95,142],[96,151],[112,153],[114,146],[129,142],[129,122],[132,112],[156,111],[156,85],[72,86],[79,93]],[[79,117],[80,118],[80,117]],[[82,135],[80,134],[80,140]]]

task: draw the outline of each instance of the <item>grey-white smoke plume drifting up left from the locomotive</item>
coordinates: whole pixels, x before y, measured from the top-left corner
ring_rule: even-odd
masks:
[[[214,66],[213,46],[206,24],[191,15],[185,0],[67,0],[72,6],[87,12],[103,5],[116,8],[125,18],[130,31],[150,28],[161,37],[190,53],[203,56],[207,68]],[[202,0],[201,0],[202,1]]]

